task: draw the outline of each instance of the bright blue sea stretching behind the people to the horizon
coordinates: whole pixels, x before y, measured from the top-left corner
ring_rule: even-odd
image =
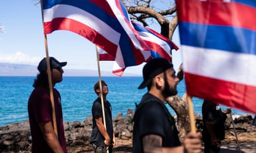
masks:
[[[32,84],[35,77],[5,77],[0,76],[0,126],[24,121],[28,119],[27,103],[33,90]],[[107,99],[112,104],[112,115],[123,113],[127,109],[135,110],[135,103],[139,103],[146,89],[137,87],[142,82],[142,77],[102,77],[108,84],[109,94]],[[56,84],[62,96],[63,118],[69,122],[83,121],[91,115],[91,105],[97,98],[93,85],[98,77],[63,77],[62,83]],[[185,93],[184,81],[178,84],[178,95]],[[194,112],[201,115],[202,100],[193,98]],[[172,115],[173,109],[169,107]],[[221,106],[222,109],[227,107]],[[243,111],[232,109],[232,113],[243,115]]]

